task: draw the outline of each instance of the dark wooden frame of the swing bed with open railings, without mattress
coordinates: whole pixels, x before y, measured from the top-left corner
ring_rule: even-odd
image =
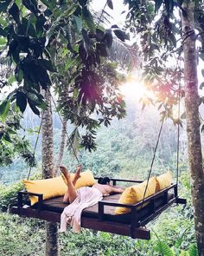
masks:
[[[98,178],[96,178],[98,179]],[[135,182],[141,183],[143,181],[130,181],[130,180],[119,180],[111,179],[113,185],[119,182]],[[169,200],[168,194],[169,190],[173,190],[173,198]],[[24,195],[35,195],[38,197],[37,207],[30,207],[23,205]],[[163,205],[161,207],[155,206],[156,198],[163,196]],[[11,207],[10,212],[16,213],[20,216],[26,216],[31,218],[36,218],[40,220],[47,220],[53,222],[61,221],[61,213],[54,213],[51,211],[42,209],[43,194],[28,193],[26,191],[20,191],[17,196],[18,203],[16,207]],[[143,204],[150,204],[150,214],[143,218],[143,220],[138,219],[138,208],[142,207]],[[186,204],[186,200],[178,197],[177,184],[172,184],[171,186],[163,189],[162,191],[151,195],[150,197],[138,202],[134,205],[126,205],[115,203],[112,201],[101,200],[99,201],[99,218],[88,218],[81,217],[81,226],[85,228],[90,228],[99,231],[105,231],[109,233],[117,233],[121,235],[131,236],[133,239],[150,240],[150,230],[143,228],[150,220],[154,220],[156,216],[162,213],[165,209],[170,207],[173,203],[176,204]],[[120,222],[113,222],[110,220],[105,220],[104,209],[107,206],[112,207],[126,207],[131,209],[131,224],[124,224]]]

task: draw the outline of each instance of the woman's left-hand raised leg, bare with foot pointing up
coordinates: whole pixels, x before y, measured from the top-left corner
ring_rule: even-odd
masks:
[[[71,180],[71,176],[68,173],[67,168],[66,167],[60,167],[60,169],[61,169],[62,174],[64,174],[66,179],[67,179],[67,192],[64,195],[63,201],[64,202],[69,202],[71,204],[77,197],[76,190],[73,186],[73,181]],[[76,181],[75,181],[75,183],[76,183]]]

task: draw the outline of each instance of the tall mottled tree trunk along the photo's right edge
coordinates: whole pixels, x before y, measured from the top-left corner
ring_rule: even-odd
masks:
[[[194,2],[183,6],[184,83],[187,113],[188,161],[192,182],[194,226],[199,255],[204,255],[204,173],[202,168],[197,56],[194,33]]]

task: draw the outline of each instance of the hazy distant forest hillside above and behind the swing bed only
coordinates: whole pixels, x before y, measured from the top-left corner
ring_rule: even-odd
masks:
[[[121,120],[114,120],[112,127],[99,128],[97,135],[97,150],[89,153],[80,150],[78,156],[84,168],[90,168],[96,176],[108,175],[117,178],[131,178],[133,180],[144,180],[150,169],[153,150],[156,147],[158,131],[161,125],[160,115],[156,108],[145,108],[136,99],[132,101],[128,96],[127,115]],[[35,145],[35,130],[39,127],[39,118],[32,114],[30,109],[25,112],[22,120],[21,133],[29,138],[31,145]],[[73,131],[70,124],[68,135]],[[61,120],[54,112],[54,155],[55,159],[59,152],[61,141]],[[67,141],[67,148],[69,142]],[[187,139],[185,137],[185,121],[180,138],[180,165],[186,170],[187,166]],[[153,175],[162,174],[166,170],[175,173],[177,150],[177,128],[172,121],[166,120],[163,133],[159,141],[156,154],[156,163]],[[35,153],[36,167],[32,168],[32,174],[41,174],[41,142],[37,144]],[[69,150],[63,157],[63,163],[73,171],[77,162]],[[10,184],[14,181],[26,179],[29,167],[25,161],[18,156],[10,166],[0,167],[1,181]]]

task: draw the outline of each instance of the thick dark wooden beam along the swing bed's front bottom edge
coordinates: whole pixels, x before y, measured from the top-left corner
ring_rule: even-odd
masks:
[[[61,221],[61,213],[38,211],[31,207],[21,208],[20,213],[17,207],[11,207],[10,213],[16,213],[20,216],[52,222]],[[131,230],[131,226],[124,223],[99,221],[98,219],[82,217],[81,226],[93,230],[116,233],[124,236],[131,236],[133,239],[150,240],[150,230],[143,227],[138,227]]]

